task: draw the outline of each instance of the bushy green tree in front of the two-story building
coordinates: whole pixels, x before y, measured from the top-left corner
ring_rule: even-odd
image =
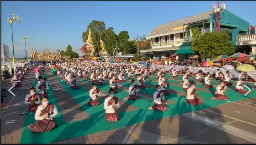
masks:
[[[230,55],[236,50],[234,44],[229,41],[229,31],[208,32],[204,35],[198,33],[198,28],[192,29],[192,50],[200,54],[202,61],[222,54]]]

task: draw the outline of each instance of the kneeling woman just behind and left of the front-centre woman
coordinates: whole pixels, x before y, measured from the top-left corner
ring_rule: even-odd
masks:
[[[92,85],[92,89],[89,91],[90,94],[90,101],[84,103],[85,105],[97,106],[100,104],[99,96],[100,96],[100,89],[97,88],[97,84]]]

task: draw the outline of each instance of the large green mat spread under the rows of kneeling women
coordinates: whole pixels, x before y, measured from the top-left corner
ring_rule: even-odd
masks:
[[[154,76],[146,79],[145,84],[152,84],[152,85],[157,84],[157,82],[151,81],[151,80],[156,80]],[[179,77],[181,77],[181,75],[179,75]],[[166,96],[166,98],[175,101],[175,103],[170,104],[169,109],[167,109],[165,112],[148,110],[148,107],[152,106],[153,102],[145,98],[142,98],[136,101],[124,100],[125,102],[130,103],[133,106],[136,106],[139,110],[119,112],[120,120],[118,122],[108,122],[105,117],[103,100],[100,101],[101,104],[99,106],[91,107],[91,106],[84,105],[84,102],[87,102],[90,99],[89,97],[90,88],[84,88],[80,86],[81,89],[73,90],[70,88],[69,85],[65,84],[64,81],[61,81],[61,79],[59,79],[56,76],[55,78],[58,79],[60,84],[69,92],[69,94],[76,100],[76,102],[79,103],[79,105],[84,109],[84,111],[90,115],[90,118],[81,120],[81,121],[72,122],[72,123],[65,123],[63,125],[58,124],[58,128],[55,128],[54,130],[48,133],[32,134],[32,133],[27,133],[26,131],[23,131],[23,137],[22,137],[21,143],[51,143],[51,142],[56,142],[56,141],[60,141],[68,138],[81,137],[87,134],[93,134],[100,131],[108,131],[112,129],[122,128],[129,125],[143,123],[145,121],[156,120],[164,117],[170,117],[177,114],[183,114],[183,113],[191,112],[194,110],[206,109],[209,107],[215,107],[221,104],[228,103],[227,101],[223,101],[223,100],[211,100],[210,99],[212,97],[211,92],[200,91],[200,90],[198,91],[198,94],[200,96],[204,96],[203,98],[204,103],[202,105],[194,107],[192,105],[189,105],[186,102],[186,98],[181,97],[177,94],[170,94],[169,96]],[[171,78],[171,75],[167,75],[166,78]],[[177,81],[172,80],[172,83],[179,84],[181,80],[182,78],[177,78]],[[108,90],[110,88],[108,81],[109,79],[106,79],[105,84],[103,86],[98,86],[98,88],[108,93]],[[215,84],[216,82],[214,81],[213,83]],[[126,81],[125,83],[122,83],[122,85],[124,85],[124,87],[128,89],[128,87],[130,86],[130,81]],[[201,84],[198,84],[198,87],[203,88]],[[170,89],[173,89],[178,92],[183,92],[183,89],[179,86],[170,86]],[[154,88],[153,89],[150,88],[148,90],[144,89],[141,91],[143,92],[145,91],[151,94],[153,90],[155,91]],[[250,94],[248,94],[246,97],[244,97],[243,95],[238,94],[233,90],[227,90],[227,95],[230,97],[230,101],[233,102],[233,101],[256,97],[256,91],[254,90]],[[115,96],[118,97],[119,99],[123,99],[128,96],[128,92],[123,89],[122,90],[120,89],[120,92],[115,94]],[[152,94],[152,98],[153,98],[153,94]],[[26,125],[28,125],[27,120],[26,120],[25,126]],[[25,129],[26,128],[27,127],[25,127]]]

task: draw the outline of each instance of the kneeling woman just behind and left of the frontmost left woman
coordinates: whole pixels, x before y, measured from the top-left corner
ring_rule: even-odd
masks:
[[[36,109],[38,109],[38,106],[40,104],[40,98],[38,95],[35,95],[35,88],[34,86],[31,86],[29,90],[30,94],[26,95],[24,104],[29,105],[29,111],[35,112]]]

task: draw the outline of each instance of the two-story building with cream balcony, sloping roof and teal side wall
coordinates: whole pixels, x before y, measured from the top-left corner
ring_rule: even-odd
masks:
[[[195,52],[191,50],[192,28],[198,27],[201,33],[216,31],[216,14],[207,11],[192,17],[187,17],[174,22],[159,25],[149,33],[151,49],[140,50],[140,53],[153,52],[155,61],[168,58],[177,54],[177,59],[183,61]],[[230,41],[236,45],[238,35],[248,34],[250,24],[230,11],[221,13],[221,31],[228,30],[231,33]]]

